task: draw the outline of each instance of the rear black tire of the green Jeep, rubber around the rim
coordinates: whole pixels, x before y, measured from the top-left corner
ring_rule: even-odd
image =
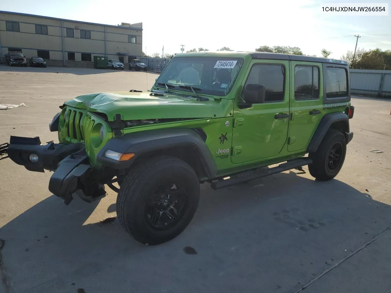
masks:
[[[328,167],[330,161],[329,155],[334,147],[340,147],[342,149],[341,160],[335,169],[330,170]],[[345,155],[346,139],[342,132],[335,129],[328,130],[316,152],[308,155],[312,159],[312,164],[308,165],[311,176],[321,181],[333,179],[341,170]]]

